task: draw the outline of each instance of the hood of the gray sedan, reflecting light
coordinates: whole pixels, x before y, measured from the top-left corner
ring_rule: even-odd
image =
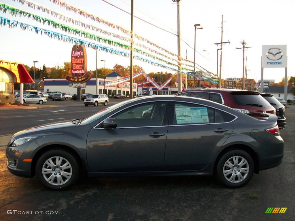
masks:
[[[31,127],[22,131],[19,131],[13,135],[14,138],[20,138],[28,135],[34,135],[34,134],[42,134],[42,133],[58,133],[58,131],[61,129],[63,130],[66,127],[73,127],[78,126],[76,124],[72,123],[71,121],[60,121],[57,123],[47,123],[35,127]]]

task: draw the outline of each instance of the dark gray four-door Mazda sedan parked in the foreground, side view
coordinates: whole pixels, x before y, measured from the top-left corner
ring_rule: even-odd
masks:
[[[226,187],[242,187],[283,158],[277,116],[251,115],[200,98],[134,98],[88,118],[14,134],[6,164],[53,190],[73,186],[82,175],[214,175]]]

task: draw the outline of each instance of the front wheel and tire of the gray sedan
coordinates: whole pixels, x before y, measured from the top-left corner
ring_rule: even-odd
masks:
[[[51,163],[49,160],[51,160]],[[35,171],[41,184],[51,190],[68,189],[79,178],[77,159],[69,152],[58,148],[51,149],[42,154],[36,163]]]

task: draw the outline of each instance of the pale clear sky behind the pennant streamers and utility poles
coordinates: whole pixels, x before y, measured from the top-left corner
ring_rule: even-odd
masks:
[[[105,0],[125,11],[131,11],[131,0]],[[94,14],[101,19],[109,21],[113,24],[130,30],[130,14],[123,12],[116,7],[106,3],[103,0],[65,0],[66,3],[78,7],[90,14]],[[112,29],[99,22],[94,22],[79,14],[67,11],[58,5],[53,4],[50,0],[32,1],[47,9],[51,9],[67,17],[74,18],[86,24],[91,24],[115,34],[129,37],[122,32]],[[28,7],[27,4],[20,4],[18,0],[0,0],[0,3],[22,9],[32,14],[45,17],[56,22],[67,24],[96,35],[122,42],[114,37],[93,32],[65,21],[48,15],[45,12]],[[171,0],[134,0],[134,15],[144,19],[162,29],[173,34],[163,31],[151,24],[134,18],[134,33],[148,39],[160,47],[177,54],[177,8]],[[294,48],[294,31],[292,24],[294,21],[294,0],[182,0],[180,3],[180,25],[181,38],[186,42],[181,42],[181,57],[194,61],[194,24],[202,24],[203,29],[196,30],[196,63],[207,70],[217,72],[217,46],[214,43],[221,42],[221,18],[223,14],[223,41],[230,41],[225,44],[222,50],[222,78],[226,77],[242,77],[242,50],[236,49],[242,47],[241,42],[245,40],[246,47],[251,47],[245,51],[247,57],[248,78],[255,77],[260,80],[261,74],[261,55],[262,45],[286,44],[288,55],[288,76],[294,76],[293,55]],[[40,24],[23,16],[11,16],[9,13],[0,11],[0,16],[27,23],[36,27],[48,29],[50,31],[66,34],[60,29],[55,29],[47,24]],[[0,60],[9,60],[22,62],[26,65],[33,66],[32,61],[39,61],[36,67],[54,67],[54,65],[63,66],[63,62],[70,62],[72,43],[66,43],[51,39],[44,34],[36,34],[21,28],[9,28],[8,26],[0,26]],[[67,34],[72,37],[83,39],[89,42],[94,40],[78,37],[73,34]],[[135,39],[136,42],[136,39]],[[115,46],[109,46],[104,43],[96,42],[102,46],[112,47],[117,50],[130,52]],[[143,42],[140,42],[144,44]],[[127,43],[128,44],[128,43]],[[148,45],[147,45],[148,46]],[[153,48],[158,50],[157,48]],[[160,51],[160,50],[159,50]],[[96,67],[96,50],[86,48],[88,57],[88,70],[94,70]],[[219,52],[220,53],[220,52]],[[153,53],[152,53],[153,54]],[[97,67],[103,67],[104,63],[100,60],[106,60],[106,68],[112,69],[115,64],[122,66],[130,65],[130,58],[106,53],[97,52]],[[140,55],[142,56],[142,55]],[[142,56],[143,57],[143,56]],[[219,57],[220,58],[220,57]],[[219,59],[218,58],[218,59]],[[153,60],[148,58],[149,60]],[[162,63],[159,61],[155,61]],[[164,64],[164,63],[162,63]],[[149,72],[168,72],[158,66],[150,65],[139,60],[133,60],[133,65],[142,66],[144,71]],[[167,65],[167,64],[164,64]],[[176,67],[174,67],[176,68]],[[193,68],[192,68],[193,69]],[[285,76],[284,68],[265,68],[264,79],[275,79],[280,82]]]

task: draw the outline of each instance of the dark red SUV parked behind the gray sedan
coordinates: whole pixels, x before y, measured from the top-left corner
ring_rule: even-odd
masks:
[[[179,92],[176,95],[212,100],[242,113],[276,114],[276,108],[270,105],[270,103],[268,103],[257,91],[235,89],[193,89]]]

